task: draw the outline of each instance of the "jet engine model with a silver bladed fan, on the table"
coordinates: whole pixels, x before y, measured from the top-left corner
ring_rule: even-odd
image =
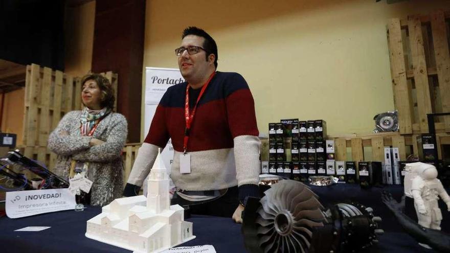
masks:
[[[260,252],[352,252],[378,243],[380,217],[357,203],[324,207],[309,187],[282,180],[250,198],[242,222],[245,247]]]

